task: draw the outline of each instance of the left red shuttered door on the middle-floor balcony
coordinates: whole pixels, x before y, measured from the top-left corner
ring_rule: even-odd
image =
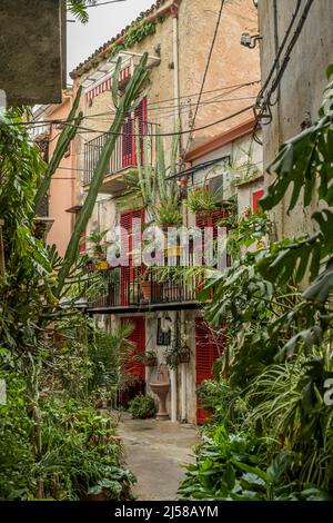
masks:
[[[121,305],[127,306],[137,303],[140,295],[140,274],[141,267],[133,264],[133,219],[141,219],[144,223],[144,209],[127,210],[120,215],[120,225],[123,229],[122,235],[127,235],[128,240],[121,238],[122,254],[129,254],[129,265],[121,267],[120,300]],[[127,250],[128,253],[124,253]]]

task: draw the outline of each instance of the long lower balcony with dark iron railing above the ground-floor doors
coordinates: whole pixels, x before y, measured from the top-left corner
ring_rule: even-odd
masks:
[[[104,293],[89,303],[90,314],[122,314],[148,310],[193,309],[198,307],[195,282],[160,283],[150,273],[142,288],[142,267],[105,270]]]

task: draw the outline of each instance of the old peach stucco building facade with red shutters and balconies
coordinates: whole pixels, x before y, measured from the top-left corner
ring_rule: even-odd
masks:
[[[77,204],[80,205],[105,139],[103,132],[114,115],[110,89],[117,57],[122,57],[120,90],[144,52],[149,55],[151,70],[151,90],[135,114],[129,115],[118,138],[87,237],[108,230],[107,239],[111,243],[118,225],[131,237],[133,220],[147,219],[140,200],[123,198],[127,175],[137,167],[134,120],[139,121],[142,135],[150,137],[149,162],[152,165],[157,130],[172,135],[180,127],[181,172],[176,178],[188,180],[185,191],[208,184],[214,190],[224,184],[224,196],[216,201],[216,210],[210,217],[201,219],[182,204],[184,225],[216,230],[219,220],[225,217],[224,203],[234,200],[242,191],[238,184],[251,187],[254,182],[251,189],[243,189],[241,204],[253,206],[253,194],[262,190],[261,150],[251,138],[251,106],[260,86],[259,53],[242,47],[240,40],[243,32],[256,32],[256,10],[250,0],[229,0],[218,27],[220,7],[218,0],[210,1],[209,6],[201,0],[160,0],[72,71],[74,92],[83,87],[81,109],[85,117],[84,131],[79,132],[75,140],[80,177]],[[216,38],[212,45],[214,31]],[[165,158],[169,158],[172,138],[165,136],[163,141]],[[131,339],[137,351],[157,355],[154,367],[132,366],[137,384],[131,394],[135,391],[151,393],[150,383],[157,381],[168,347],[175,339],[184,342],[190,357],[169,371],[168,412],[173,421],[202,423],[206,414],[198,402],[196,386],[211,376],[221,341],[214,339],[200,313],[198,282],[189,286],[169,278],[159,286],[152,285],[147,299],[142,295],[140,274],[131,264],[124,269],[108,268],[104,293],[90,304],[90,314],[105,328],[130,320],[134,326]]]

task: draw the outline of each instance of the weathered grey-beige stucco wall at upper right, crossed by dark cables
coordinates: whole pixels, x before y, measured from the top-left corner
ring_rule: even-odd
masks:
[[[263,37],[261,43],[263,82],[273,65],[276,49],[282,42],[296,3],[296,0],[261,0],[259,2],[260,32]],[[305,3],[305,0],[302,0],[300,13]],[[271,108],[273,120],[269,126],[263,127],[265,166],[274,159],[283,141],[301,131],[301,125],[307,117],[306,114],[310,114],[312,121],[316,119],[326,83],[325,69],[333,61],[332,27],[332,0],[314,0],[280,83],[279,99]],[[291,34],[293,33],[294,30]],[[271,177],[266,176],[265,186],[271,181]],[[290,216],[286,214],[287,204],[289,197],[272,213],[278,236],[311,234],[313,226],[310,216],[316,203],[313,201],[312,208],[306,211],[303,211],[299,205]]]

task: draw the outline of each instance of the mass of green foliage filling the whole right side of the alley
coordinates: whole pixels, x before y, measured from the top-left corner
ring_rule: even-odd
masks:
[[[188,468],[185,499],[310,501],[332,493],[333,416],[324,399],[333,376],[332,107],[331,81],[317,121],[282,145],[261,200],[265,210],[282,199],[289,210],[323,204],[312,216],[316,233],[251,253],[270,223],[264,215],[241,219],[228,239],[233,266],[211,272],[202,293],[208,298],[213,290],[205,317],[224,329],[226,343],[219,361],[223,379],[201,387],[213,437]],[[259,444],[254,464],[251,452],[239,460],[230,451],[230,438],[244,434]]]

